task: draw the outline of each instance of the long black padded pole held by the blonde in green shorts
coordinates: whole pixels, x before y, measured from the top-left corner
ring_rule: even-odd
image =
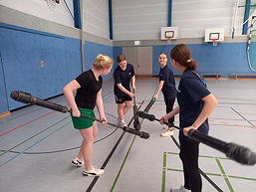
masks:
[[[47,107],[47,108],[50,108],[50,109],[53,109],[53,110],[64,112],[64,113],[72,112],[67,106],[63,106],[63,105],[60,105],[60,104],[57,104],[57,103],[54,103],[54,102],[43,100],[41,98],[32,96],[29,93],[13,91],[11,93],[11,97],[13,99],[15,99],[17,101],[20,101],[20,102],[23,102],[23,103],[36,104],[36,105]],[[98,118],[93,118],[91,116],[87,116],[87,115],[84,115],[84,114],[81,114],[81,116],[91,118],[93,120],[97,120],[97,121],[101,122],[101,120],[98,119]],[[149,133],[147,133],[147,132],[134,130],[134,129],[129,128],[129,127],[121,127],[121,126],[119,126],[117,124],[113,124],[111,122],[108,122],[108,124],[110,124],[112,126],[116,126],[118,128],[122,128],[124,131],[127,131],[131,134],[135,134],[135,135],[139,136],[140,138],[144,138],[144,139],[149,138]]]

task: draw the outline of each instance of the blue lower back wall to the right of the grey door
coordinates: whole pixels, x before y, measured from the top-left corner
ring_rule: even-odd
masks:
[[[218,44],[191,44],[188,45],[192,52],[192,58],[198,62],[198,71],[205,74],[222,74],[222,78],[231,77],[230,74],[252,73],[247,64],[246,43]],[[158,55],[167,54],[170,65],[170,51],[174,46],[153,46],[152,74],[158,74]],[[179,74],[171,66],[174,74]]]

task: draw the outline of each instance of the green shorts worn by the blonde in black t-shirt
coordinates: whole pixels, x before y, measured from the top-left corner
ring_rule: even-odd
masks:
[[[80,110],[81,114],[85,114],[87,116],[96,118],[94,109],[79,107],[79,110]],[[93,119],[90,119],[90,118],[87,118],[84,116],[77,117],[77,116],[71,115],[71,118],[73,121],[74,128],[76,128],[76,129],[89,128],[89,127],[93,126],[93,122],[95,121]]]

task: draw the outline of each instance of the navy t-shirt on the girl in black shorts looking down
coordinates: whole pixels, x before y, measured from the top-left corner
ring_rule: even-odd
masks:
[[[127,96],[123,93],[117,86],[117,84],[122,84],[124,88],[130,91],[129,83],[131,78],[134,76],[134,69],[131,64],[127,65],[127,69],[123,71],[120,66],[115,69],[114,72],[114,79],[115,79],[115,86],[114,86],[114,93],[116,96]]]

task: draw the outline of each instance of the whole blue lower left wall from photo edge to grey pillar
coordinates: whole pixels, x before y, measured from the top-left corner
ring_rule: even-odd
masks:
[[[41,98],[58,96],[82,72],[80,40],[2,23],[0,39],[0,86],[6,88],[1,89],[0,112],[25,105],[10,98],[14,90]]]

